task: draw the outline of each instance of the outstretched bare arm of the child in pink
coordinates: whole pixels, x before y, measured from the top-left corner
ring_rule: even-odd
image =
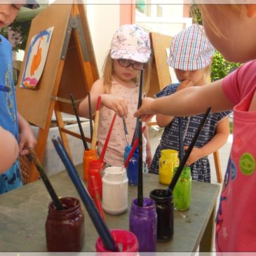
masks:
[[[142,107],[134,116],[142,116],[143,121],[151,119],[153,114],[169,116],[193,116],[202,114],[208,107],[212,112],[222,112],[234,107],[222,90],[222,79],[206,86],[192,86],[173,95],[152,99],[142,99]]]

